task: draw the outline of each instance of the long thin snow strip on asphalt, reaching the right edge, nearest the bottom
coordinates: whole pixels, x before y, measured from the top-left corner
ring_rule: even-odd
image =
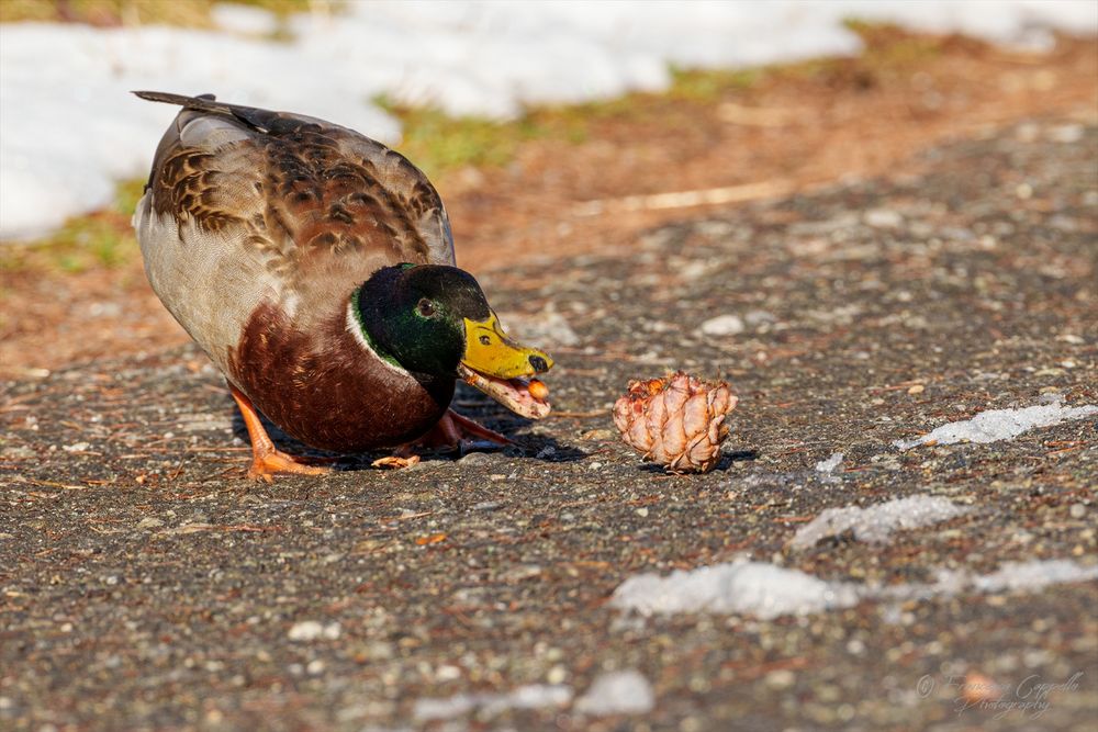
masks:
[[[997,572],[976,575],[967,571],[940,571],[933,584],[858,585],[827,582],[797,570],[738,560],[676,571],[666,577],[641,574],[621,583],[610,604],[641,615],[720,612],[751,615],[764,620],[784,615],[807,615],[853,607],[862,600],[928,599],[964,593],[1033,590],[1047,585],[1098,578],[1098,565],[1069,560],[1008,562]]]

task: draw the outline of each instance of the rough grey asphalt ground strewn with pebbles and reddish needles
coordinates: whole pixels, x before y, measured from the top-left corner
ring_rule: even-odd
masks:
[[[1098,129],[1027,123],[927,153],[918,177],[483,280],[502,313],[540,314],[516,335],[557,342],[554,417],[459,394],[515,437],[503,452],[254,484],[243,424],[194,349],[8,383],[0,728],[1094,729],[1095,582],[768,621],[607,600],[635,573],[738,556],[883,584],[1093,566],[1094,418],[990,444],[893,441],[1049,395],[1098,404],[1096,147]],[[742,333],[698,334],[719,315]],[[664,475],[613,431],[627,380],[671,368],[740,397],[709,474]],[[831,476],[814,470],[834,452]],[[788,545],[825,508],[908,495],[973,510],[886,544]],[[576,701],[616,669],[649,682],[649,711]],[[1007,701],[1026,679],[1061,686],[1040,716],[959,710],[951,677],[966,674]],[[539,684],[564,700],[453,703]],[[450,699],[448,718],[424,719],[426,699]]]

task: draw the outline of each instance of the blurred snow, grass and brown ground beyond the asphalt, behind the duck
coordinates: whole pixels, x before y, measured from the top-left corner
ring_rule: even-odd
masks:
[[[176,111],[133,89],[395,146],[439,189],[458,263],[505,277],[627,255],[697,210],[914,174],[919,150],[1022,119],[1093,124],[1096,33],[1090,0],[3,0],[0,378],[187,341],[130,228]]]

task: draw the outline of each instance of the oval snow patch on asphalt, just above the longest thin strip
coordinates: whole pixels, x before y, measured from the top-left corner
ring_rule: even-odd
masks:
[[[793,549],[809,549],[821,539],[847,531],[858,541],[884,543],[894,531],[907,531],[961,516],[968,509],[937,496],[909,496],[861,508],[828,508],[793,537]]]

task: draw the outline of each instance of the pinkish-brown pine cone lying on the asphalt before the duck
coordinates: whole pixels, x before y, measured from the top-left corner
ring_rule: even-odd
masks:
[[[676,371],[630,381],[629,393],[614,405],[614,424],[646,460],[672,473],[705,473],[720,460],[728,437],[725,415],[737,401],[722,381],[707,383]]]

